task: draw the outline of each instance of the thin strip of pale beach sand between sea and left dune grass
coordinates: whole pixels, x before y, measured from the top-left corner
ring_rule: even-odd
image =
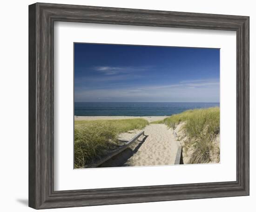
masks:
[[[75,116],[74,120],[103,120],[103,119],[146,119],[148,122],[163,120],[166,116]]]

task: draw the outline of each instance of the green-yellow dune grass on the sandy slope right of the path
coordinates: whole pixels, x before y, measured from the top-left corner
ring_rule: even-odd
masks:
[[[175,129],[181,122],[185,122],[184,129],[190,140],[185,148],[194,147],[189,163],[209,163],[214,150],[213,141],[220,132],[220,108],[188,110],[154,123],[164,123]]]

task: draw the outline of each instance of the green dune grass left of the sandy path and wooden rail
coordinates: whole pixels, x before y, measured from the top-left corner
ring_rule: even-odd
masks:
[[[145,119],[89,120],[74,122],[74,167],[82,168],[118,146],[119,133],[142,129]]]

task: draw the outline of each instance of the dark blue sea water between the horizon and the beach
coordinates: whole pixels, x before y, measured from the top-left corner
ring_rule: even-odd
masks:
[[[170,116],[195,108],[220,106],[220,103],[174,102],[75,102],[76,116]]]

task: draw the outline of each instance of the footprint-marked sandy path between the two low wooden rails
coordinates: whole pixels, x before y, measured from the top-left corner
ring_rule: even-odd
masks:
[[[164,124],[145,127],[147,139],[123,166],[172,165],[178,149],[172,130]]]

